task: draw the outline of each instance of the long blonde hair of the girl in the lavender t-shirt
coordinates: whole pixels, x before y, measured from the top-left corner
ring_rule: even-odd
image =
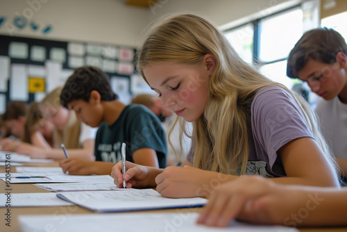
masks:
[[[154,25],[139,49],[137,67],[146,81],[144,67],[148,65],[198,65],[206,54],[214,56],[216,67],[210,76],[205,111],[194,122],[194,167],[225,174],[246,172],[249,110],[257,90],[268,85],[277,85],[293,95],[316,142],[334,162],[310,105],[245,63],[228,40],[203,17],[176,15]],[[181,125],[181,130],[185,130],[184,124]]]

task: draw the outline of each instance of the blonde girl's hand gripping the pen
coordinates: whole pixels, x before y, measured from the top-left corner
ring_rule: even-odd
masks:
[[[115,185],[123,188],[123,180],[126,181],[126,188],[132,187],[149,187],[151,185],[149,167],[136,165],[126,161],[126,174],[121,172],[121,161],[112,167],[111,176],[115,179]]]

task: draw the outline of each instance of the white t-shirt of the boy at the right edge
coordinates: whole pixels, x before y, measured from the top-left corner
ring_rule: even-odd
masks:
[[[347,104],[342,103],[339,97],[330,101],[321,99],[315,110],[335,157],[347,158]]]

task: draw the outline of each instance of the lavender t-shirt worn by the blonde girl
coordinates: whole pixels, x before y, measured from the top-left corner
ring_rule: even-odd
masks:
[[[278,149],[297,138],[314,138],[305,117],[291,94],[271,85],[255,94],[248,128],[249,155],[246,174],[265,177],[287,176]],[[194,151],[187,159],[193,163]]]

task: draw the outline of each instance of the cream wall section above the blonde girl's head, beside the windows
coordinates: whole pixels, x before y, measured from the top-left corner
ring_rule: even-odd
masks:
[[[305,0],[162,0],[150,8],[151,21],[167,13],[192,11],[212,20],[221,29],[239,26],[271,15]]]

